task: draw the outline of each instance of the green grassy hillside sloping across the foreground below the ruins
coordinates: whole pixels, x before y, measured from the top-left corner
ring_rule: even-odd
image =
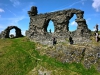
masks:
[[[41,54],[25,37],[0,39],[0,75],[100,75],[81,63],[61,63]]]

